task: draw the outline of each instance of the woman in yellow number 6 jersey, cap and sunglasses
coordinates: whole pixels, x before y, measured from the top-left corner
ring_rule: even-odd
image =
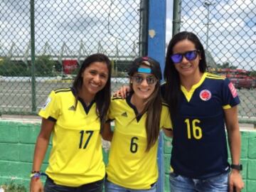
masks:
[[[107,124],[102,134],[112,140],[105,191],[153,192],[159,131],[171,134],[168,106],[160,95],[161,69],[156,60],[142,57],[133,61],[128,74],[132,91],[126,99],[113,97],[110,105],[114,133]]]

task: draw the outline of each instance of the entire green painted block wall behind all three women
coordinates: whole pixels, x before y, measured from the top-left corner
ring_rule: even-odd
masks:
[[[25,123],[0,120],[0,186],[4,183],[21,183],[28,188],[32,167],[33,150],[40,123]],[[256,132],[241,132],[242,164],[245,180],[244,192],[256,191]],[[50,148],[46,159],[48,159]],[[107,161],[108,150],[104,149]],[[169,161],[171,158],[171,139],[164,137],[164,191],[169,191]],[[44,171],[47,160],[44,160]]]

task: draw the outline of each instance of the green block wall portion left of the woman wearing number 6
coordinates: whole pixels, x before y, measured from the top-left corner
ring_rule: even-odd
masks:
[[[33,151],[40,125],[0,120],[0,186],[14,181],[28,188]],[[48,147],[42,171],[46,170],[50,149],[51,147]],[[103,158],[106,162],[108,148],[103,148]]]

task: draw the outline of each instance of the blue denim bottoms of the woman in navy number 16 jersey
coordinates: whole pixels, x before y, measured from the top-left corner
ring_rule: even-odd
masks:
[[[227,192],[229,172],[206,179],[170,174],[171,192]]]

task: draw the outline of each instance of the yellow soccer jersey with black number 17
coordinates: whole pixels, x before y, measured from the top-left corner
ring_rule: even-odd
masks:
[[[105,176],[100,119],[96,103],[86,107],[71,89],[50,92],[39,115],[55,121],[53,148],[46,174],[63,186],[81,186]]]

